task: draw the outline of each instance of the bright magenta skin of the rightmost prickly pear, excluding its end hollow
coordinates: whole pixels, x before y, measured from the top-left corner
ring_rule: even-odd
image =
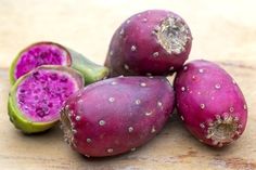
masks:
[[[247,121],[247,106],[239,86],[217,64],[196,60],[183,66],[175,79],[178,113],[188,130],[201,142],[222,147],[236,140]],[[236,118],[235,134],[226,142],[207,138],[213,122]],[[212,120],[212,121],[210,121]]]

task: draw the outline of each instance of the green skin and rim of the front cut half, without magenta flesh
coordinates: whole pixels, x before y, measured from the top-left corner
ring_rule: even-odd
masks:
[[[65,66],[54,66],[54,65],[48,65],[48,66],[40,66],[37,67],[36,69],[57,69],[57,70],[63,70],[63,71],[68,71],[72,74],[74,77],[79,79],[77,81],[79,89],[84,87],[82,82],[85,82],[82,75],[71,68],[71,67],[65,67]],[[33,70],[31,70],[33,71]],[[23,75],[20,77],[16,82],[12,86],[11,91],[9,93],[9,100],[8,100],[8,115],[10,117],[10,121],[15,126],[15,128],[20,129],[22,132],[30,134],[30,133],[38,133],[38,132],[43,132],[50,128],[52,128],[55,123],[57,123],[59,119],[48,121],[48,122],[35,122],[33,120],[29,120],[26,118],[23,113],[20,110],[16,102],[16,90],[18,84],[26,79],[30,75],[29,71],[26,75]]]

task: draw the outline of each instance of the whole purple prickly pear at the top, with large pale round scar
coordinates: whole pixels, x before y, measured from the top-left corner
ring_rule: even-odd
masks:
[[[115,31],[105,66],[111,77],[171,74],[183,65],[191,44],[190,28],[179,15],[164,10],[144,11]]]

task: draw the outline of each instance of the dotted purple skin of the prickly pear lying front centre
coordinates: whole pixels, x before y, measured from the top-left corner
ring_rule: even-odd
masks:
[[[73,125],[69,142],[75,151],[88,157],[118,155],[162,130],[172,113],[174,95],[168,80],[161,77],[106,79],[72,95],[61,120]]]

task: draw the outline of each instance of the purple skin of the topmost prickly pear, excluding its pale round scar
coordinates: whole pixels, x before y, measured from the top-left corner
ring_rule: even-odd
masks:
[[[179,18],[188,28],[188,41],[181,53],[168,53],[154,34],[169,15]],[[191,31],[179,15],[164,10],[144,11],[125,21],[115,31],[105,66],[111,69],[111,77],[167,75],[182,66],[191,45]]]

